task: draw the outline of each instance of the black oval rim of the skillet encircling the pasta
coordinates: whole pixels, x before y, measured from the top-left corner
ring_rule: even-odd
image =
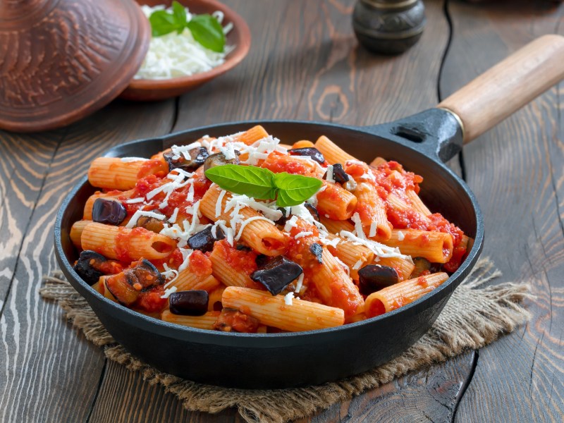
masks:
[[[104,157],[116,157],[116,155],[112,155],[116,149],[120,149],[123,147],[128,147],[130,145],[140,144],[142,142],[163,142],[168,138],[172,138],[178,135],[194,133],[197,131],[202,130],[212,130],[218,129],[226,126],[231,125],[254,125],[254,124],[305,124],[305,125],[318,125],[318,126],[326,126],[331,128],[340,128],[348,131],[356,131],[360,133],[364,133],[373,137],[381,137],[381,135],[374,132],[374,126],[352,126],[352,125],[341,125],[337,123],[326,123],[326,122],[314,122],[314,121],[297,121],[297,120],[290,120],[290,119],[271,119],[271,120],[252,120],[252,121],[233,121],[233,122],[225,122],[225,123],[216,123],[212,125],[205,125],[200,126],[197,128],[191,128],[188,130],[178,131],[176,133],[170,133],[163,135],[161,137],[149,137],[149,138],[142,138],[140,140],[133,140],[130,142],[125,142],[120,145],[115,145],[108,149],[104,153]],[[300,342],[301,344],[304,343],[311,343],[315,342],[315,340],[319,337],[324,336],[332,336],[334,333],[341,333],[342,331],[349,330],[349,332],[355,332],[355,329],[361,330],[366,326],[371,326],[373,324],[380,324],[381,321],[386,319],[393,319],[397,317],[399,314],[406,314],[410,312],[410,310],[417,309],[417,308],[426,308],[431,307],[432,305],[436,304],[443,300],[444,297],[450,296],[450,293],[457,288],[462,280],[470,274],[474,265],[479,258],[480,253],[482,252],[483,247],[483,240],[484,240],[484,221],[482,212],[479,209],[479,205],[477,200],[470,188],[467,186],[464,180],[462,180],[458,175],[456,175],[448,166],[443,164],[438,157],[429,157],[424,154],[422,151],[416,148],[415,143],[410,141],[401,140],[399,137],[394,137],[393,134],[390,134],[389,137],[386,135],[387,140],[390,142],[395,142],[397,144],[402,145],[403,147],[407,147],[408,149],[412,149],[413,152],[420,154],[422,157],[433,161],[436,166],[441,166],[443,171],[446,171],[450,178],[453,178],[455,182],[462,188],[465,192],[465,195],[470,198],[472,202],[472,206],[474,207],[474,215],[476,216],[476,236],[474,238],[474,245],[472,245],[472,249],[467,255],[467,258],[464,262],[460,265],[460,267],[449,276],[448,280],[441,284],[438,288],[435,288],[431,292],[423,295],[421,298],[418,298],[414,302],[407,304],[403,307],[400,307],[392,312],[388,312],[385,314],[381,314],[377,317],[372,317],[370,319],[365,319],[362,321],[357,321],[350,324],[345,324],[343,326],[336,326],[333,328],[326,328],[326,329],[317,329],[314,331],[302,331],[302,332],[286,332],[286,333],[233,333],[233,332],[222,332],[222,331],[208,331],[206,329],[197,329],[197,328],[190,328],[188,326],[181,326],[178,324],[168,323],[166,321],[162,321],[160,319],[156,319],[154,317],[146,316],[145,314],[141,314],[140,312],[136,312],[133,309],[129,309],[124,307],[123,305],[119,305],[116,302],[109,300],[108,298],[101,295],[96,290],[92,288],[92,286],[88,285],[85,281],[78,276],[78,274],[74,271],[71,266],[71,263],[68,261],[65,252],[63,250],[62,245],[62,236],[63,231],[62,228],[62,221],[63,216],[68,208],[68,205],[71,203],[77,192],[83,188],[83,186],[87,183],[87,176],[83,176],[80,181],[73,187],[71,192],[66,195],[63,202],[61,203],[61,207],[59,208],[59,212],[56,215],[56,221],[54,226],[54,238],[55,238],[55,252],[56,258],[61,266],[61,270],[63,274],[65,274],[69,279],[71,285],[74,286],[74,283],[78,284],[80,288],[82,288],[82,292],[87,293],[90,295],[91,298],[86,297],[76,286],[77,289],[82,297],[84,297],[88,302],[90,300],[99,300],[104,302],[106,307],[110,307],[113,309],[114,315],[112,318],[118,318],[121,320],[127,321],[134,321],[137,326],[142,326],[143,330],[151,331],[152,333],[159,333],[161,336],[168,336],[168,338],[176,338],[176,339],[186,339],[192,343],[202,343],[202,344],[226,344],[233,346],[233,342],[242,342],[242,346],[246,348],[266,348],[272,347],[274,345],[262,345],[263,343],[271,343],[273,340],[281,340],[281,341],[302,341],[307,340],[307,342]],[[421,144],[418,144],[421,145]],[[92,187],[93,188],[93,187]],[[448,300],[448,299],[447,299]],[[426,304],[426,307],[422,307],[423,303],[430,302]],[[115,315],[117,313],[117,315]],[[133,320],[131,320],[133,319]],[[188,338],[190,336],[197,336],[198,339]],[[223,341],[223,342],[220,342]],[[249,344],[249,341],[254,341],[252,344]],[[238,345],[235,345],[238,346]]]

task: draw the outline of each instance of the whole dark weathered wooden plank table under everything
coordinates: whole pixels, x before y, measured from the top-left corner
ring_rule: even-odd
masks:
[[[186,412],[104,359],[39,298],[57,269],[54,216],[109,147],[210,123],[299,118],[365,125],[434,106],[535,37],[564,34],[564,4],[427,0],[427,28],[402,56],[358,47],[351,0],[231,0],[252,31],[235,71],[159,103],[115,101],[68,128],[0,132],[0,421],[232,422]],[[563,63],[564,66],[564,63]],[[484,256],[530,281],[527,326],[479,351],[334,405],[316,422],[563,420],[564,85],[467,145],[452,165],[482,206]]]

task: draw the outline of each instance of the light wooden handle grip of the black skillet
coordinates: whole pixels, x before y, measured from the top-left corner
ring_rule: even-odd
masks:
[[[460,118],[466,144],[563,78],[564,37],[544,35],[479,75],[438,107]]]

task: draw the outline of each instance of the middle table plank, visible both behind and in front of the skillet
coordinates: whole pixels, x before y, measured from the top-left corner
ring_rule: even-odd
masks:
[[[426,2],[429,23],[422,40],[396,58],[373,56],[357,47],[350,23],[353,0],[226,3],[250,25],[250,54],[235,71],[180,97],[175,130],[253,118],[369,125],[438,102],[437,75],[448,40],[441,1]],[[369,421],[385,416],[396,421],[403,416],[407,422],[413,421],[413,407],[422,420],[450,420],[473,357],[467,353],[393,381],[313,420]],[[187,420],[241,421],[234,410],[213,416],[185,412],[176,398],[164,395],[163,388],[149,386],[139,374],[109,364],[90,422]]]

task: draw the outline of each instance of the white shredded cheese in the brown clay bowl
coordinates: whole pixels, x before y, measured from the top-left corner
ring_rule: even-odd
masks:
[[[164,5],[142,6],[142,11],[147,19],[154,11],[164,9]],[[186,8],[186,16],[188,20],[193,16],[188,8]],[[222,23],[223,13],[221,11],[212,13],[212,16]],[[232,27],[233,24],[228,23],[223,27],[223,33],[227,34]],[[162,80],[210,71],[221,65],[226,55],[234,48],[234,46],[226,46],[222,53],[206,49],[195,41],[188,28],[185,28],[180,34],[174,31],[161,37],[152,37],[147,56],[134,79]]]

